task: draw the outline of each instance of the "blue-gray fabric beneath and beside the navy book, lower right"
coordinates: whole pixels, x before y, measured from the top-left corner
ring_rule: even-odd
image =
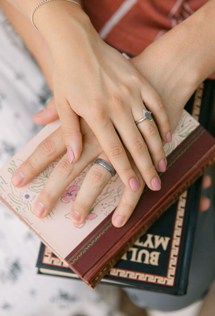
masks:
[[[211,174],[211,170],[207,171]],[[212,187],[202,190],[211,199],[211,206],[199,212],[189,273],[187,294],[182,296],[126,288],[134,304],[160,311],[173,311],[201,300],[215,277],[215,204]]]

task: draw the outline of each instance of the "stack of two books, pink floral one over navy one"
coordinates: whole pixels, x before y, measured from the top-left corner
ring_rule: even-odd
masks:
[[[172,143],[164,146],[167,170],[159,174],[161,190],[145,188],[122,228],[111,223],[123,190],[118,175],[106,185],[90,210],[91,216],[81,227],[71,223],[73,199],[65,199],[64,195],[46,218],[39,219],[32,212],[33,203],[58,160],[28,185],[14,188],[11,184],[11,175],[17,167],[59,127],[59,121],[44,127],[0,169],[0,200],[45,245],[41,245],[37,261],[39,273],[78,276],[92,288],[102,280],[174,294],[186,292],[201,190],[201,180],[196,180],[215,160],[215,139],[198,122],[205,111],[201,102],[203,88],[204,85],[197,89],[187,104],[192,115],[184,110]],[[202,117],[207,123],[207,115]],[[74,186],[77,194],[91,165],[72,181],[68,192]]]

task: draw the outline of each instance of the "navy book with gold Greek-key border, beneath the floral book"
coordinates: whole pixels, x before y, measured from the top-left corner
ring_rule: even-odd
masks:
[[[210,130],[215,84],[206,80],[185,109]],[[118,286],[186,294],[201,178],[176,201],[100,281]],[[41,243],[38,273],[79,278],[69,266]]]

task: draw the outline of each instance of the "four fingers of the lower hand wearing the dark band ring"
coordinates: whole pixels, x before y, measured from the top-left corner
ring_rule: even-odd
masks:
[[[62,159],[52,171],[33,206],[33,212],[37,217],[43,218],[48,215],[62,192],[91,161],[96,158],[100,158],[110,163],[89,126],[83,119],[80,119],[80,123],[83,139],[83,151],[79,161],[70,164],[67,154],[63,155],[66,151],[66,147],[63,142],[62,129],[59,127],[39,144],[35,151],[12,176],[12,183],[14,185],[19,187],[26,185],[49,163],[58,158],[60,155],[63,155]],[[127,154],[129,155],[129,153]],[[120,203],[112,216],[113,225],[116,227],[121,227],[127,222],[138,203],[139,197],[145,185],[130,156],[129,160],[137,174],[140,187],[137,191],[133,191],[127,187],[124,188]],[[22,182],[18,185],[16,183],[16,179],[20,179],[20,173],[24,175],[24,179],[22,179]],[[77,224],[84,222],[96,198],[104,189],[105,185],[110,181],[110,178],[111,173],[99,164],[94,164],[90,168],[72,206],[70,215],[72,222]]]

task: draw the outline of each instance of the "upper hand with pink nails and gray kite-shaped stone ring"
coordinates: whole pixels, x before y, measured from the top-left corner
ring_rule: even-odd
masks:
[[[54,8],[59,9],[57,13]],[[46,10],[51,22],[50,18],[48,22],[42,20]],[[139,182],[122,143],[147,186],[159,190],[156,170],[166,169],[161,137],[171,141],[171,132],[166,110],[154,88],[122,54],[99,38],[76,4],[51,2],[37,11],[35,24],[53,58],[54,98],[70,163],[77,162],[82,151],[80,116],[127,188],[139,190]],[[135,124],[143,118],[143,101],[153,113],[161,137],[153,120]]]

